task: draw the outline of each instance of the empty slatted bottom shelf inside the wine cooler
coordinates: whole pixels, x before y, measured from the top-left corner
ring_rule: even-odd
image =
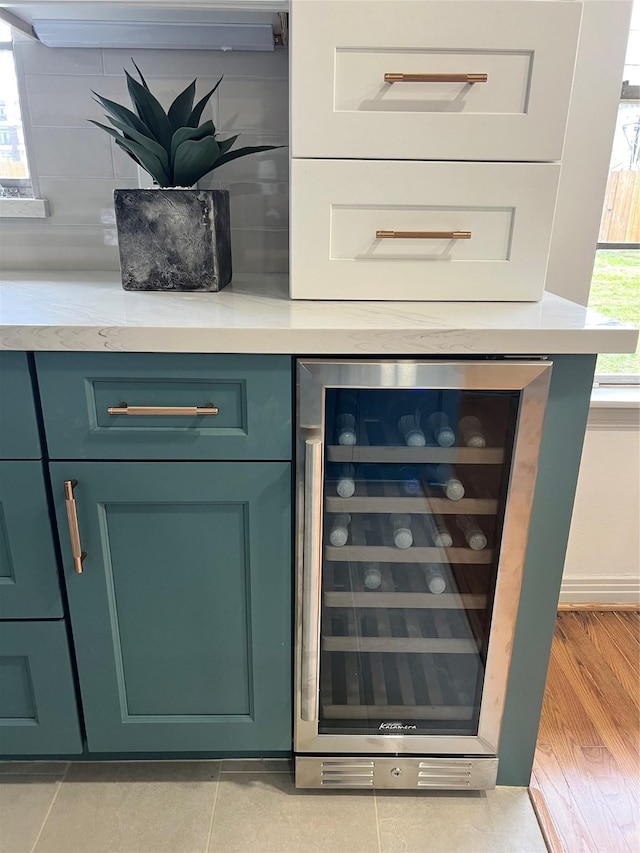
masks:
[[[344,720],[470,720],[478,668],[471,663],[462,672],[459,657],[449,661],[430,654],[324,652],[322,715]]]

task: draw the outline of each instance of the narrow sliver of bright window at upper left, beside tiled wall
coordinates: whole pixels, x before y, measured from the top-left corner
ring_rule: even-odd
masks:
[[[32,197],[11,28],[0,22],[0,196]]]

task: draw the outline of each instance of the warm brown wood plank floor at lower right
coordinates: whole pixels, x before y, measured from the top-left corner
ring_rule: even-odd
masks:
[[[552,853],[639,853],[640,613],[558,614],[531,796]]]

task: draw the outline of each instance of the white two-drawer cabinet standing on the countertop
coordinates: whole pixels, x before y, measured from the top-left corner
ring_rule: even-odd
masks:
[[[292,0],[294,299],[542,298],[581,0]]]

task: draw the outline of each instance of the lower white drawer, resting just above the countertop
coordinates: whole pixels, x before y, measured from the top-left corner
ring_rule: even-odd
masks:
[[[559,177],[554,163],[293,160],[291,297],[536,301]]]

